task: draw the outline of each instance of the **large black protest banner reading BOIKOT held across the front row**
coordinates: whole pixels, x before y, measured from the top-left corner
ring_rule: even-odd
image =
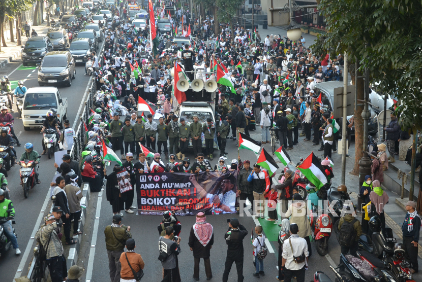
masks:
[[[238,207],[237,171],[146,173],[136,175],[138,214],[234,214]]]

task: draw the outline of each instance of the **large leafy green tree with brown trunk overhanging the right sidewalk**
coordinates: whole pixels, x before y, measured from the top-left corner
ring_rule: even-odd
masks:
[[[368,68],[373,82],[381,81],[383,90],[398,98],[398,113],[403,130],[422,125],[422,3],[415,0],[321,0],[318,5],[325,16],[327,33],[318,36],[312,46],[317,54],[347,52],[356,58],[360,72]],[[363,81],[358,79],[358,96]],[[361,109],[357,116],[361,120]],[[356,122],[356,120],[355,120]],[[357,127],[355,126],[355,130]],[[356,131],[356,160],[353,174],[358,173],[363,134]]]

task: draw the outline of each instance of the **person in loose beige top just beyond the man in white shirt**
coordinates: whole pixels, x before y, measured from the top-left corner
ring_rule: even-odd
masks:
[[[289,206],[286,213],[286,218],[290,218],[290,222],[294,222],[299,227],[297,235],[304,238],[308,244],[309,257],[312,255],[311,240],[311,225],[307,217],[307,207],[302,197],[296,193],[293,195],[293,203]]]

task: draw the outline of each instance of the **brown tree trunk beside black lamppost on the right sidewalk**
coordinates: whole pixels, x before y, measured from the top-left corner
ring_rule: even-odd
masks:
[[[359,63],[357,64],[359,67]],[[362,76],[362,73],[358,70],[357,76]],[[354,81],[353,81],[354,84]],[[364,100],[365,98],[365,82],[364,79],[357,79],[357,99]],[[359,103],[359,102],[358,102]],[[353,175],[359,175],[359,160],[364,156],[364,119],[362,118],[362,111],[364,107],[357,107],[357,111],[354,113],[354,167],[350,172]]]

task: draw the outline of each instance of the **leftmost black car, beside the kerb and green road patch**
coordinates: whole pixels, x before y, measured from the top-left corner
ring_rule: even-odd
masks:
[[[29,38],[21,48],[22,64],[27,66],[28,63],[41,62],[45,54],[53,50],[53,44],[48,36],[36,36]]]

